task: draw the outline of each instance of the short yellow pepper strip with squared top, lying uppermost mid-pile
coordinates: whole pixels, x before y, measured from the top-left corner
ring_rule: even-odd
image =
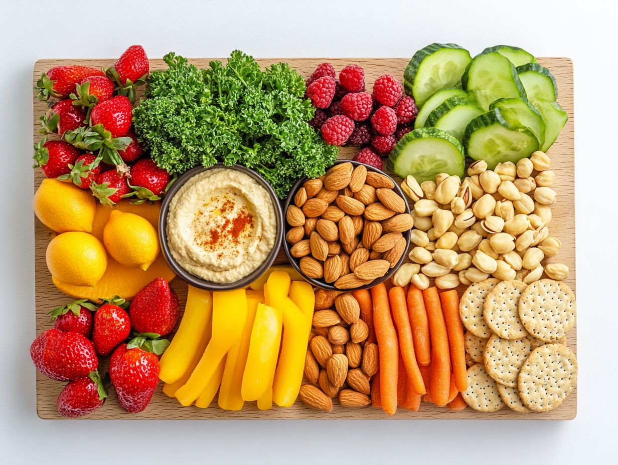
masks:
[[[273,383],[281,345],[281,310],[258,304],[251,332],[249,353],[242,375],[241,395],[245,401],[260,399]]]

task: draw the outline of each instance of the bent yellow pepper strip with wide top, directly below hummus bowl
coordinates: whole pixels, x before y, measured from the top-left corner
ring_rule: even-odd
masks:
[[[247,320],[244,289],[213,292],[213,335],[187,383],[176,391],[181,404],[191,405],[206,389],[227,351],[240,340]]]

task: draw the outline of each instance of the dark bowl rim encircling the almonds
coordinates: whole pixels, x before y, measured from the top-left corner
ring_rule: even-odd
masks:
[[[341,163],[346,163],[346,162],[350,162],[352,163],[352,165],[357,166],[357,165],[363,165],[365,166],[365,168],[367,169],[367,171],[373,171],[379,174],[383,174],[388,176],[386,173],[384,173],[383,171],[371,166],[371,165],[367,165],[365,163],[361,163],[361,162],[357,162],[357,161],[353,161],[353,160],[339,160],[337,161],[335,164],[341,164]],[[302,185],[308,180],[307,177],[302,177],[300,178],[295,185],[292,187],[292,191],[290,191],[290,195],[287,196],[286,199],[286,204],[283,207],[283,211],[284,211],[284,216],[287,212],[287,207],[290,206],[290,204],[294,204],[294,196],[296,195],[297,191],[302,187]],[[405,199],[404,193],[401,190],[401,188],[399,187],[399,185],[397,185],[397,183],[393,180],[393,183],[395,185],[395,187],[393,188],[393,190],[397,193],[397,195],[399,195],[402,199],[404,199],[405,201],[405,212],[406,213],[410,213],[410,207],[408,206],[408,202]],[[287,221],[284,220],[284,234],[287,234],[287,232],[290,230],[291,226],[289,224],[287,224]],[[402,234],[404,235],[405,238],[405,250],[407,251],[408,248],[410,248],[410,233],[412,232],[412,230],[408,230],[403,232]],[[373,287],[375,285],[378,285],[379,283],[383,283],[384,281],[386,281],[387,279],[389,279],[394,272],[396,272],[396,270],[401,266],[401,264],[404,262],[405,259],[405,252],[401,255],[401,258],[399,259],[399,261],[397,262],[396,266],[392,267],[391,269],[389,269],[386,274],[384,276],[381,276],[379,278],[376,278],[375,280],[373,280],[372,282],[370,282],[369,284],[365,284],[363,286],[360,287],[356,287],[353,289],[339,289],[334,287],[334,285],[332,283],[327,283],[326,281],[324,281],[324,279],[315,279],[315,278],[310,278],[307,275],[305,275],[302,270],[300,270],[300,259],[299,258],[295,258],[292,256],[292,253],[290,253],[290,249],[292,248],[292,244],[290,244],[287,240],[283,240],[284,243],[284,249],[286,251],[286,255],[287,255],[287,259],[290,262],[290,264],[292,264],[292,266],[298,271],[298,273],[300,273],[300,275],[306,279],[308,282],[310,282],[311,284],[313,284],[314,286],[323,288],[323,289],[330,289],[330,290],[334,290],[334,291],[345,291],[345,290],[356,290],[356,289],[368,289],[370,287]]]

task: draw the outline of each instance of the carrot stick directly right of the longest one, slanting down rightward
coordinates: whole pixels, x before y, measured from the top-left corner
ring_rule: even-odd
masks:
[[[397,327],[399,351],[404,362],[405,372],[407,372],[407,377],[410,379],[410,384],[414,391],[419,395],[423,395],[427,391],[425,390],[425,383],[423,383],[421,372],[418,371],[417,356],[414,354],[412,329],[410,328],[404,290],[395,286],[389,291],[388,297],[391,303],[392,316]]]

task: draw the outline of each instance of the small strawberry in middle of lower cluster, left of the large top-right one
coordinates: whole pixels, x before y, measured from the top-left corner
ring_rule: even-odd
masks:
[[[92,341],[99,355],[109,355],[117,345],[129,337],[130,332],[129,315],[119,306],[104,304],[96,311]]]

